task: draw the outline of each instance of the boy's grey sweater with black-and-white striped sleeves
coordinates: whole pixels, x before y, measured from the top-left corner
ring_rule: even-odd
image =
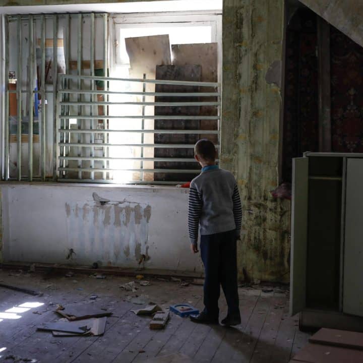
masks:
[[[217,165],[205,166],[191,181],[188,207],[189,237],[197,244],[200,233],[215,234],[235,229],[239,236],[242,208],[234,176]]]

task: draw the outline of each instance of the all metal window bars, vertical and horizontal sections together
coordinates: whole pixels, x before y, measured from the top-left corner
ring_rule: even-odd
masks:
[[[10,88],[10,82],[6,82],[5,87],[3,179],[117,183],[114,174],[116,170],[120,170],[133,173],[123,183],[177,184],[177,181],[156,181],[153,177],[146,180],[145,176],[147,173],[150,176],[157,172],[192,175],[196,170],[189,167],[168,169],[154,167],[153,164],[175,161],[185,165],[185,162],[194,162],[194,159],[190,156],[155,158],[152,150],[191,149],[194,145],[179,141],[157,144],[152,138],[153,134],[213,136],[218,138],[216,143],[219,144],[218,83],[107,77],[107,14],[11,15],[5,19],[5,74],[16,71],[17,82],[16,87]],[[71,37],[71,33],[76,30],[78,36]],[[51,72],[48,69],[49,59],[53,64],[58,64],[58,52],[61,49],[59,42],[63,44],[62,59],[66,74],[58,74],[57,67],[51,67]],[[87,62],[89,71],[85,72],[84,66],[87,68]],[[101,74],[100,69],[103,70]],[[140,87],[138,91],[130,90],[130,87],[114,90],[109,87],[113,82],[125,85],[131,82]],[[150,92],[150,84],[194,85],[215,92]],[[14,103],[11,102],[14,101],[14,96],[17,111],[14,111]],[[155,102],[154,97],[159,96],[175,97],[177,102]],[[114,97],[123,97],[126,100],[116,102]],[[136,97],[138,98],[135,99]],[[184,97],[188,97],[188,102],[183,102]],[[190,97],[194,97],[192,99],[195,101],[189,102]],[[215,101],[210,101],[211,98],[208,97]],[[38,102],[41,105],[36,116]],[[139,106],[139,112],[112,114],[116,106],[128,105]],[[211,106],[216,107],[217,111],[213,113],[215,116],[167,117],[150,112],[155,107],[178,105]],[[13,113],[10,112],[11,109]],[[180,120],[186,124],[192,120],[212,119],[217,127],[214,130],[154,130],[147,126],[154,119]],[[117,127],[110,127],[112,125]],[[117,138],[121,135],[121,140],[124,141],[118,142]],[[140,138],[135,135],[140,135]],[[125,137],[129,138],[126,142]],[[115,147],[119,148],[119,152],[110,153]],[[123,152],[125,147],[137,151],[131,157],[130,153]],[[125,164],[128,160],[132,161],[132,166]],[[115,161],[119,162],[116,167]]]

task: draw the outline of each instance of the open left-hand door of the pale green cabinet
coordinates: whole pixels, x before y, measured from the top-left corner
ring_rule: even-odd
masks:
[[[292,160],[290,314],[306,306],[309,158]]]

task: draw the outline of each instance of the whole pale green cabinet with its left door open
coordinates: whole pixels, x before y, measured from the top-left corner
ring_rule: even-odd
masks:
[[[363,331],[363,154],[293,159],[290,313]]]

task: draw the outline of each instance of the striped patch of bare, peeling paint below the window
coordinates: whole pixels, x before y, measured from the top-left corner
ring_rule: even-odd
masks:
[[[151,258],[148,254],[151,206],[126,201],[109,202],[101,205],[95,201],[93,206],[66,203],[69,235],[69,246],[66,247],[77,251],[73,263],[77,263],[77,256],[87,253],[107,261],[110,266],[119,265],[125,257],[139,261],[143,254],[146,260]]]

